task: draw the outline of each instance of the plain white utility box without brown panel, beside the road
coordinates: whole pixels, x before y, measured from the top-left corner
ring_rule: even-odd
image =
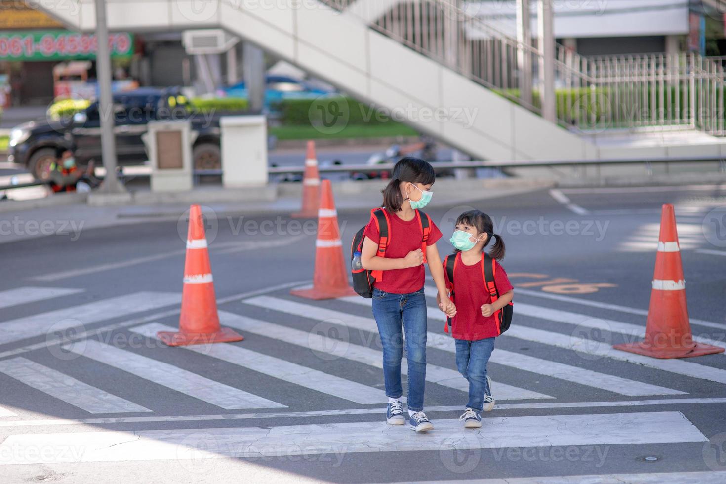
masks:
[[[221,128],[222,183],[262,186],[268,181],[265,116],[224,116]]]

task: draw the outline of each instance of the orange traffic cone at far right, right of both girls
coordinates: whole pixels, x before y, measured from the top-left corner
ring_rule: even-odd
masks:
[[[653,358],[690,358],[724,350],[693,341],[673,205],[663,205],[661,214],[661,234],[658,237],[645,340],[614,345],[613,348]]]

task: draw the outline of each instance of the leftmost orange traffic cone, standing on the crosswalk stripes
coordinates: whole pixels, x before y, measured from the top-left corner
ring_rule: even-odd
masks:
[[[219,327],[207,239],[199,205],[192,205],[189,209],[187,261],[184,263],[179,332],[160,331],[157,337],[169,346],[226,343],[244,339],[232,329]]]

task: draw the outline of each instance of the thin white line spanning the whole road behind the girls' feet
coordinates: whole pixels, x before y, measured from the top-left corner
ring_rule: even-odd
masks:
[[[609,407],[637,407],[661,405],[715,405],[726,403],[726,398],[663,398],[656,400],[616,400],[599,402],[552,402],[546,403],[497,403],[495,410],[544,410],[544,409],[597,409]],[[428,414],[434,412],[461,411],[457,406],[431,406],[426,408]],[[339,415],[372,415],[385,414],[386,409],[341,409],[266,412],[258,414],[213,414],[213,415],[157,415],[153,417],[97,417],[91,419],[34,419],[0,421],[0,427],[38,427],[46,425],[95,425],[95,424],[131,424],[136,422],[186,422],[189,420],[246,420],[246,419],[280,419],[280,418],[311,418]],[[14,416],[14,415],[13,415]],[[10,417],[10,416],[6,416]]]

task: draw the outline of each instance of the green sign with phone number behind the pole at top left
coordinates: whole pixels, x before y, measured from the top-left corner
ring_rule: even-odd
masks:
[[[113,57],[134,54],[134,35],[120,32],[108,36]],[[0,32],[0,60],[72,60],[94,59],[98,38],[92,33],[68,30],[4,31]]]

